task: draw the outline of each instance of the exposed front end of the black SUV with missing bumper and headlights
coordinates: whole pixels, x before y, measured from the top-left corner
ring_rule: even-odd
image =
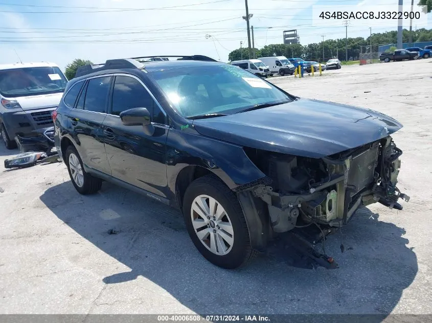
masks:
[[[266,178],[249,187],[268,206],[272,229],[286,232],[303,223],[346,225],[361,206],[379,202],[402,210],[396,187],[402,151],[392,137],[314,159],[245,148]]]

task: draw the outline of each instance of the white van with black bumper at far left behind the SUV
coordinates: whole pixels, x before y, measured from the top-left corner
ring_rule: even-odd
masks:
[[[57,108],[67,79],[54,63],[0,65],[0,132],[6,148],[15,136],[43,133],[54,141],[51,113]]]

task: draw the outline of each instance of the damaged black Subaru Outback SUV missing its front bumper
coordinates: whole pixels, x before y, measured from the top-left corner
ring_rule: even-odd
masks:
[[[106,180],[178,208],[199,252],[225,268],[277,233],[408,200],[396,187],[398,121],[203,56],[83,66],[53,119],[78,192]]]

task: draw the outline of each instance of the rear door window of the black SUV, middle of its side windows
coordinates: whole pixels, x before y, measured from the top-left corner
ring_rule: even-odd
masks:
[[[110,85],[110,76],[88,80],[84,110],[101,113],[105,112]]]

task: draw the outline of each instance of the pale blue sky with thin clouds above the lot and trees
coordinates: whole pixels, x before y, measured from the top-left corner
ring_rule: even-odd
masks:
[[[397,9],[397,0],[248,0],[255,47],[283,43],[283,31],[291,29],[303,45],[321,42],[323,35],[344,38],[343,20],[317,23],[312,6],[318,5],[387,11]],[[0,64],[49,61],[64,69],[75,58],[103,63],[192,54],[226,62],[241,41],[247,46],[244,15],[244,0],[0,0]],[[397,20],[350,21],[348,37],[368,37],[369,27],[372,33],[396,30]],[[416,27],[432,28],[432,13]]]

